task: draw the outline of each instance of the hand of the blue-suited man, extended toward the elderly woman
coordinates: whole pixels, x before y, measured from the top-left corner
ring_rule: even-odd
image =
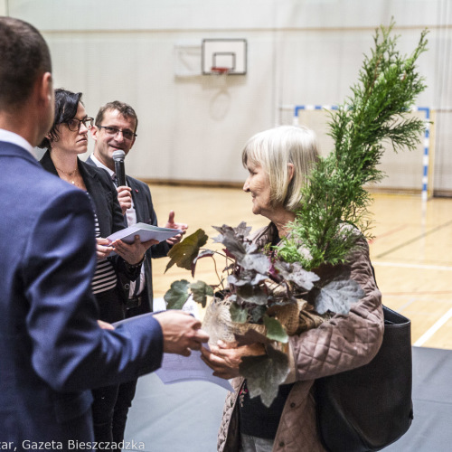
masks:
[[[201,322],[183,311],[169,310],[154,315],[164,334],[164,352],[190,356],[190,350],[201,350],[209,334],[201,329]]]

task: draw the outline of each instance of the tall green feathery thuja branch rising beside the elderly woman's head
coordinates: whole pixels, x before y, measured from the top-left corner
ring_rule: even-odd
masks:
[[[397,152],[412,150],[420,142],[424,121],[409,118],[408,112],[426,88],[416,61],[426,51],[428,32],[420,34],[410,56],[400,55],[399,36],[391,37],[393,26],[391,22],[376,31],[352,96],[330,113],[328,135],[334,139],[334,151],[320,159],[303,188],[289,238],[278,249],[280,259],[299,261],[306,269],[343,262],[356,237],[344,224],[354,224],[370,237],[371,197],[363,185],[383,177],[377,168],[383,143],[391,143]]]

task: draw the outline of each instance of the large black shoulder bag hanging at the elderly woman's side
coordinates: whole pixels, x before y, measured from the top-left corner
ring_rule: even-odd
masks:
[[[382,307],[383,342],[372,362],[315,381],[317,425],[330,452],[381,450],[410,428],[410,320]]]

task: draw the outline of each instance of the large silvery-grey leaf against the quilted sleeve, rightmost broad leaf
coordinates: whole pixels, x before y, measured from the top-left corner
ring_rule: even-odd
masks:
[[[331,311],[348,314],[350,306],[364,297],[364,291],[353,279],[339,279],[322,287],[315,297],[315,310],[319,314]]]

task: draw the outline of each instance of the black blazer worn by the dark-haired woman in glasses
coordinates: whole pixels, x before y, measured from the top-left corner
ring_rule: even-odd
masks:
[[[40,162],[45,170],[58,176],[50,151],[42,155]],[[77,165],[92,201],[93,210],[98,216],[100,237],[105,238],[113,232],[127,228],[127,222],[118,202],[118,192],[108,173],[98,167],[87,165],[80,158],[77,158]],[[129,268],[124,259],[118,255],[108,259],[112,261],[117,273],[127,276],[132,281],[135,281],[139,276],[141,266]],[[123,295],[122,291],[121,295]]]

